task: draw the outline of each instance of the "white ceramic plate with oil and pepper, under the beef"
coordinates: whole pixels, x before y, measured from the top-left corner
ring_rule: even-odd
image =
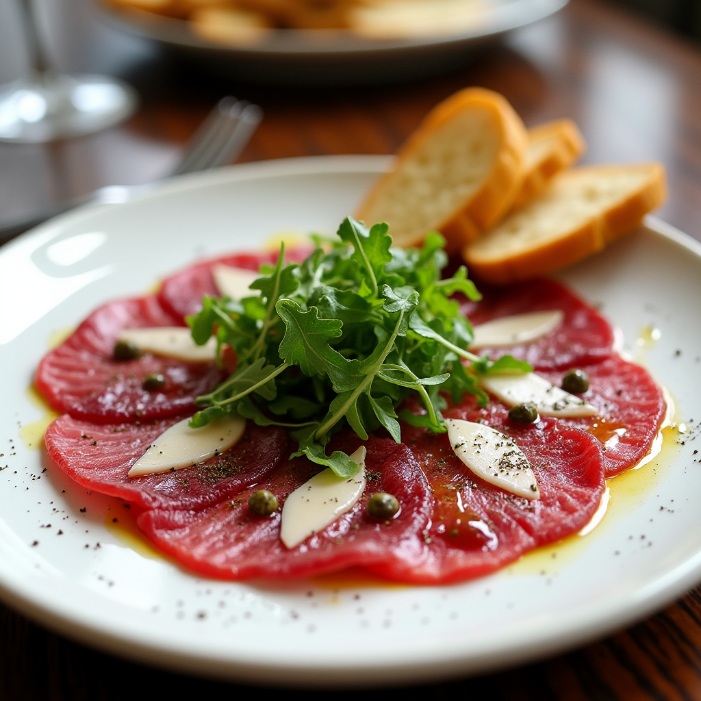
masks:
[[[611,482],[608,513],[590,535],[493,576],[449,587],[205,580],[132,546],[112,526],[125,521],[119,500],[42,471],[31,426],[42,411],[27,388],[57,330],[196,257],[281,232],[332,233],[387,163],[308,158],[184,177],[130,203],[65,215],[0,249],[0,593],[8,604],[70,637],[172,669],[371,685],[563,651],[701,580],[692,420],[701,418],[701,246],[654,220],[562,278],[620,325],[627,349],[671,390],[687,433],[668,432],[655,461]]]

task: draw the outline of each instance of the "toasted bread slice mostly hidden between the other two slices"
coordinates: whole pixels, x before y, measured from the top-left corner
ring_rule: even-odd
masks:
[[[523,207],[584,153],[584,137],[571,119],[556,119],[528,130],[524,179],[511,210]]]

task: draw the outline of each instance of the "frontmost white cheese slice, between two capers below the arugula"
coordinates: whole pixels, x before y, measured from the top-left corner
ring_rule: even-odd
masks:
[[[365,446],[351,455],[360,465],[353,477],[339,477],[331,468],[322,470],[285,499],[280,540],[286,547],[299,545],[314,533],[350,511],[365,491]]]

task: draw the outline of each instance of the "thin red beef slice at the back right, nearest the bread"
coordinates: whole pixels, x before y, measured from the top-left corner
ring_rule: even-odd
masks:
[[[562,324],[533,343],[508,348],[479,348],[490,358],[510,355],[527,360],[536,370],[560,369],[605,360],[613,353],[615,336],[611,325],[564,285],[554,280],[530,280],[509,287],[480,287],[478,302],[465,301],[460,311],[473,326],[503,316],[559,309]]]

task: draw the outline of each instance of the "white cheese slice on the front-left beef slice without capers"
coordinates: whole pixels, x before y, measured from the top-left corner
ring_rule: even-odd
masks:
[[[151,443],[132,465],[129,477],[179,470],[209,460],[236,444],[246,428],[245,418],[226,416],[207,426],[190,428],[189,418],[173,424]]]

